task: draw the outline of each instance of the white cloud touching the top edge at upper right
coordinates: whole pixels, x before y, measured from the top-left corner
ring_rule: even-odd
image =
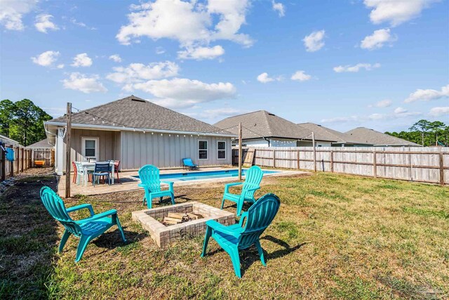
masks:
[[[370,20],[374,24],[389,22],[399,25],[420,15],[424,8],[436,0],[365,0],[368,8],[373,8]]]

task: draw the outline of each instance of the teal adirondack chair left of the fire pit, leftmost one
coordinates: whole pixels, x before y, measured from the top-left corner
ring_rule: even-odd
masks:
[[[123,233],[115,209],[102,212],[101,214],[95,214],[91,204],[81,204],[66,209],[62,199],[53,192],[51,188],[48,188],[48,186],[41,188],[41,200],[51,216],[60,221],[65,227],[65,232],[64,235],[62,235],[59,245],[59,253],[64,249],[65,242],[67,242],[70,235],[79,237],[78,250],[76,251],[75,259],[76,262],[81,259],[84,250],[86,250],[86,247],[91,240],[102,235],[114,225],[119,227],[121,238],[123,239],[123,242],[126,242],[125,234]],[[89,209],[89,211],[91,211],[91,216],[79,221],[72,220],[69,216],[69,212],[77,211],[79,209]]]

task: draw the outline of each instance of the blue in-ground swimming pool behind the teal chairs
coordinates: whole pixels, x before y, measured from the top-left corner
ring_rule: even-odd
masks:
[[[263,171],[265,174],[275,174],[279,171]],[[242,169],[242,176],[245,176],[246,169]],[[197,171],[197,172],[183,172],[183,173],[172,173],[172,174],[161,174],[159,178],[161,181],[192,181],[200,179],[213,179],[213,178],[229,178],[239,176],[238,169],[231,170],[220,170],[220,171]],[[134,178],[139,178],[138,175],[133,176]]]

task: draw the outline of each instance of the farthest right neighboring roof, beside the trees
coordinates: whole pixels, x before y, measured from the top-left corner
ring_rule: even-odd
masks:
[[[389,136],[388,134],[365,127],[357,127],[346,133],[357,140],[365,141],[366,143],[373,145],[409,145],[421,147],[421,145],[416,143],[403,140],[402,138],[396,138],[395,136]]]

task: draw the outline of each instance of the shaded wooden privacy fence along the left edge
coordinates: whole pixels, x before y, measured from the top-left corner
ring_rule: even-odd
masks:
[[[32,150],[29,150],[18,143],[0,139],[1,145],[14,150],[14,161],[6,160],[6,152],[0,148],[0,181],[17,175],[32,167]]]

